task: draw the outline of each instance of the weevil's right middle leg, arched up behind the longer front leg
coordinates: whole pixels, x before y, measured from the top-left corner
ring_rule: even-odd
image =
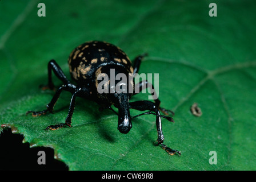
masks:
[[[151,89],[151,95],[155,94],[155,89],[154,89],[153,84],[151,84],[147,80],[143,80],[143,81],[141,81],[141,82],[139,82],[138,84],[135,85],[135,93],[133,95],[138,94],[143,89],[147,89],[147,88]],[[174,115],[173,111],[171,111],[169,109],[165,109],[163,107],[160,107],[161,101],[158,98],[156,98],[154,101],[155,101],[155,105],[158,107],[158,109],[160,111],[162,111],[163,114],[169,115],[171,113],[172,115]]]

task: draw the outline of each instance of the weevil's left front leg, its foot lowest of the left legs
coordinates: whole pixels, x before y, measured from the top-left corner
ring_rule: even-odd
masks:
[[[74,94],[72,95],[71,101],[70,101],[70,106],[69,106],[69,113],[67,114],[67,118],[65,120],[65,123],[59,123],[57,125],[50,125],[46,127],[46,130],[57,130],[61,127],[64,126],[69,126],[71,127],[71,119],[72,119],[72,115],[74,113],[74,109],[75,109],[75,98],[77,97],[77,94],[79,94],[79,92],[81,91],[81,89],[78,89],[76,92],[74,92]]]

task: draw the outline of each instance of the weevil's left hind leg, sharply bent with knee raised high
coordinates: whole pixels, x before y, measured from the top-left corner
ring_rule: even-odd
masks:
[[[42,90],[46,90],[46,89],[50,89],[50,90],[54,90],[54,84],[53,84],[53,80],[51,77],[51,70],[53,70],[55,76],[57,76],[59,78],[59,80],[61,80],[63,82],[63,84],[69,84],[70,81],[67,80],[65,74],[63,73],[61,67],[59,67],[59,65],[56,63],[55,60],[50,60],[48,63],[48,85],[46,86],[42,86]]]

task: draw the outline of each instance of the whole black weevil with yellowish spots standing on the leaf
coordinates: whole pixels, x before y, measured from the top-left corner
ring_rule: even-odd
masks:
[[[139,117],[144,114],[154,114],[156,116],[158,135],[157,141],[154,143],[155,146],[161,145],[162,148],[170,155],[173,155],[175,153],[181,155],[181,152],[179,152],[178,150],[171,149],[170,147],[167,147],[165,144],[163,144],[164,136],[162,132],[161,118],[166,118],[167,120],[174,122],[173,118],[166,116],[169,113],[174,113],[171,110],[160,107],[160,100],[158,98],[155,98],[154,102],[147,100],[130,102],[131,96],[137,93],[117,92],[116,90],[109,93],[99,93],[97,90],[99,85],[99,75],[107,75],[110,82],[110,70],[114,69],[115,75],[118,75],[118,73],[122,73],[129,77],[129,74],[138,73],[142,59],[146,55],[147,54],[144,53],[135,57],[132,65],[126,53],[123,52],[119,47],[114,46],[113,44],[101,41],[91,41],[83,43],[80,46],[76,47],[70,53],[68,59],[69,72],[72,80],[76,84],[73,84],[72,82],[67,80],[67,77],[55,60],[50,60],[47,67],[48,84],[46,86],[43,86],[42,89],[55,89],[52,80],[52,71],[55,76],[57,76],[59,80],[62,81],[63,85],[56,90],[50,103],[46,105],[47,109],[42,111],[27,111],[26,114],[32,113],[34,117],[37,117],[42,114],[53,113],[54,105],[56,104],[61,92],[63,90],[66,90],[72,94],[72,97],[65,123],[47,126],[46,130],[57,130],[65,126],[71,127],[71,118],[75,108],[75,98],[82,97],[87,100],[97,102],[100,106],[100,111],[102,111],[103,109],[110,109],[114,111],[114,113],[118,115],[117,129],[123,134],[129,133],[132,127],[131,120],[133,118]],[[108,84],[109,82],[106,82],[105,87],[111,90],[111,85]],[[114,83],[117,84],[116,81]],[[138,84],[134,84],[133,80],[130,82],[129,85],[126,86],[126,88],[131,86],[133,88],[133,91],[135,90],[135,88],[141,91],[143,88],[149,88],[149,86],[151,86],[154,91],[154,86],[147,80],[140,81]],[[154,92],[152,92],[151,94],[154,94]],[[117,107],[118,112],[111,107],[112,105]],[[130,109],[149,111],[131,117]],[[161,115],[159,111],[162,111],[165,115]]]

